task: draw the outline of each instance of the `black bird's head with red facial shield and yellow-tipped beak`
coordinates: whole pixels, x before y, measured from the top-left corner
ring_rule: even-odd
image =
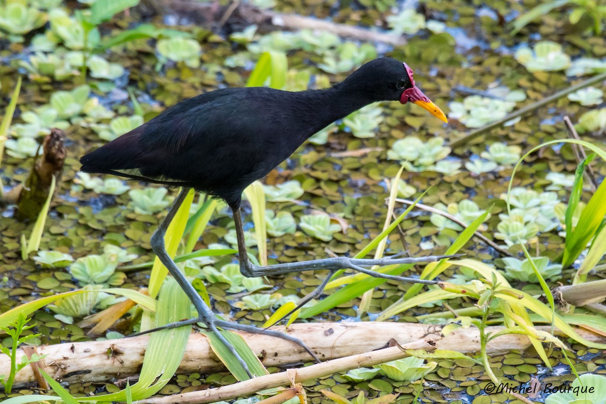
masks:
[[[438,105],[419,90],[413,76],[413,70],[407,64],[393,58],[379,58],[363,65],[350,78],[364,83],[364,88],[358,90],[367,93],[373,101],[413,102],[441,121],[448,122]]]

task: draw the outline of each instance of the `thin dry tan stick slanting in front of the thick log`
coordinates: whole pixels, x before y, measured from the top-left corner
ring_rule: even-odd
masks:
[[[425,339],[421,341],[407,343],[405,345],[392,346],[391,348],[379,349],[378,351],[368,352],[359,355],[347,356],[344,358],[328,360],[317,365],[307,366],[296,369],[295,383],[305,382],[306,380],[318,379],[322,376],[328,376],[339,372],[345,372],[351,369],[357,369],[366,366],[379,365],[379,363],[390,362],[391,360],[402,359],[410,356],[407,352],[412,349],[425,349],[433,351],[435,340]],[[229,386],[223,386],[203,391],[193,391],[175,396],[156,397],[155,399],[140,400],[136,404],[202,404],[212,403],[221,400],[231,400],[237,397],[250,396],[255,392],[274,388],[291,383],[288,372],[268,374],[267,376],[255,377],[255,379],[245,380]]]

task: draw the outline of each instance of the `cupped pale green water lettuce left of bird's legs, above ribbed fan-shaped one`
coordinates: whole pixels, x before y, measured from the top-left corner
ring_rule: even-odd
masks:
[[[119,263],[117,254],[91,254],[72,263],[70,273],[81,285],[121,285],[122,274],[116,273]]]

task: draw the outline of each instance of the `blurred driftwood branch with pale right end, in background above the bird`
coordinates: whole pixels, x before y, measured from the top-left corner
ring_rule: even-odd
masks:
[[[310,29],[330,32],[344,38],[357,39],[364,42],[383,42],[390,45],[404,45],[406,39],[401,35],[393,35],[386,32],[371,31],[367,28],[354,27],[351,25],[337,24],[332,21],[321,20],[313,17],[275,13],[270,10],[260,10],[255,6],[244,2],[232,2],[227,7],[219,7],[212,2],[199,2],[195,0],[164,0],[150,1],[149,4],[156,8],[156,12],[165,13],[170,8],[180,15],[186,15],[198,24],[208,28],[219,28],[224,24],[234,27],[256,24],[259,31],[271,30],[301,30]],[[225,18],[227,16],[227,18]]]

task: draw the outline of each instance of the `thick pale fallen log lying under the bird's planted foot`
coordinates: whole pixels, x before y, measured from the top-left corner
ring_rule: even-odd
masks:
[[[550,331],[550,326],[537,327]],[[284,327],[275,327],[284,331]],[[491,326],[493,333],[503,327]],[[305,342],[322,360],[330,360],[367,353],[384,348],[391,339],[405,344],[425,339],[436,339],[436,348],[475,353],[480,350],[477,328],[460,328],[445,337],[441,326],[415,323],[356,322],[356,323],[302,323],[293,324],[285,331]],[[604,338],[584,329],[576,331],[585,339],[604,342]],[[302,348],[279,338],[242,333],[248,345],[259,356],[265,366],[288,366],[308,362],[309,356]],[[61,343],[38,346],[38,355],[47,355],[38,362],[38,367],[63,382],[105,382],[113,378],[124,378],[139,373],[149,336],[115,340]],[[521,334],[499,336],[488,343],[488,354],[498,354],[512,349],[524,350],[530,345]],[[24,352],[19,349],[17,357]],[[199,333],[191,334],[185,356],[179,366],[179,374],[213,373],[224,366],[210,349],[208,340]],[[0,357],[0,374],[10,372],[10,360]],[[34,385],[35,372],[31,366],[22,369],[15,380],[15,387]]]

